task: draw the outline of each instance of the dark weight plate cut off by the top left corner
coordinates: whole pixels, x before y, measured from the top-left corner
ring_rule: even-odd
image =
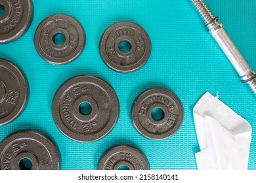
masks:
[[[0,44],[15,41],[26,33],[33,18],[31,0],[1,0]]]

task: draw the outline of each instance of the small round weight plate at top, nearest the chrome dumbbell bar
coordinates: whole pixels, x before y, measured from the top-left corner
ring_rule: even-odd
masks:
[[[123,42],[131,46],[128,52],[122,52]],[[137,24],[119,22],[109,27],[100,40],[100,54],[103,61],[119,73],[131,73],[142,67],[151,52],[148,33]]]

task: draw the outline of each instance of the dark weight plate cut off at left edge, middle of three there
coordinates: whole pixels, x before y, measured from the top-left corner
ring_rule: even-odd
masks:
[[[0,59],[0,125],[9,124],[23,112],[28,101],[28,84],[21,71]]]

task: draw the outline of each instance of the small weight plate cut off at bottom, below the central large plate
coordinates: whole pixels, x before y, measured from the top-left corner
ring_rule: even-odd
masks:
[[[131,146],[115,146],[107,150],[98,163],[98,170],[117,170],[125,166],[129,170],[149,170],[146,157]]]

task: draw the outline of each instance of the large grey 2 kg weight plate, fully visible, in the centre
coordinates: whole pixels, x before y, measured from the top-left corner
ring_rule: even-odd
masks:
[[[85,115],[81,104],[91,105]],[[102,139],[116,125],[119,101],[112,87],[94,76],[77,76],[63,84],[53,100],[53,118],[64,135],[79,142]]]

